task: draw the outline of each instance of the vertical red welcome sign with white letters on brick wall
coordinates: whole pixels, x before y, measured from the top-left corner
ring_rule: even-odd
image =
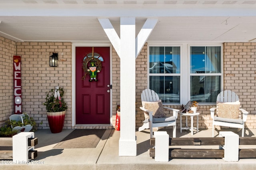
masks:
[[[15,114],[21,111],[21,57],[13,56],[13,78],[14,78],[14,109]]]

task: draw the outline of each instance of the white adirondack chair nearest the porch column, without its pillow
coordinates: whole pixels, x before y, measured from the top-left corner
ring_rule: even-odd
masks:
[[[153,118],[153,111],[146,109],[143,106],[143,102],[156,102],[159,101],[159,96],[154,90],[145,89],[141,94],[141,101],[142,101],[142,109],[144,113],[149,115],[149,120],[145,119],[144,124],[139,127],[138,131],[143,131],[144,129],[150,129],[150,138],[153,137],[153,128],[156,127],[166,127],[166,126],[173,126],[173,137],[176,137],[176,119],[178,117],[178,109],[173,109],[170,107],[164,107],[164,109],[169,109],[173,111],[172,117],[165,117],[165,118]],[[170,121],[171,120],[171,121]]]

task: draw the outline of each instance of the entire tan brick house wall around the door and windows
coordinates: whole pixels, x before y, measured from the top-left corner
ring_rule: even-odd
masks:
[[[242,107],[249,111],[246,128],[256,128],[256,43],[224,43],[224,90],[239,95]],[[49,66],[49,56],[58,53],[58,67]],[[54,86],[64,87],[68,102],[64,129],[72,125],[72,43],[66,42],[14,42],[0,37],[0,125],[14,111],[13,99],[13,55],[22,56],[22,110],[38,123],[38,129],[48,128],[46,109],[42,105],[45,92]],[[113,125],[116,106],[120,104],[120,58],[112,48]],[[136,128],[142,125],[144,113],[140,94],[147,88],[147,44],[136,59]],[[172,106],[180,109],[180,106]],[[212,128],[210,107],[198,106],[199,128]],[[168,113],[168,116],[172,113]],[[183,118],[184,119],[184,118]],[[190,120],[189,120],[190,121]],[[42,124],[40,124],[42,122]],[[184,121],[183,121],[184,122]],[[177,127],[180,127],[178,117]]]

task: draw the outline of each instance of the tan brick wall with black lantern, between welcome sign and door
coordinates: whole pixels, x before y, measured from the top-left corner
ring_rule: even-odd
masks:
[[[64,129],[72,125],[72,43],[17,42],[17,55],[22,61],[22,111],[32,116],[38,129],[48,128],[46,108],[43,106],[46,91],[64,88],[68,104]],[[58,53],[58,67],[49,66],[49,56]],[[41,124],[42,122],[42,124]]]

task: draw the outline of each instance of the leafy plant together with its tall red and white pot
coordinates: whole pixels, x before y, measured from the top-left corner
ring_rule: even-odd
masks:
[[[64,125],[65,113],[68,106],[64,102],[63,96],[64,90],[59,86],[46,92],[46,102],[43,105],[46,106],[48,123],[52,133],[60,133]]]

